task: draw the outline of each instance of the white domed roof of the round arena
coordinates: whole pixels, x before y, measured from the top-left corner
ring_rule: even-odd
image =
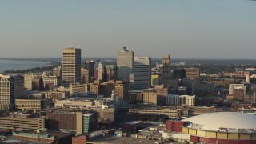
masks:
[[[256,129],[256,116],[234,112],[202,114],[182,121],[191,122],[195,129],[218,131],[228,129]]]

